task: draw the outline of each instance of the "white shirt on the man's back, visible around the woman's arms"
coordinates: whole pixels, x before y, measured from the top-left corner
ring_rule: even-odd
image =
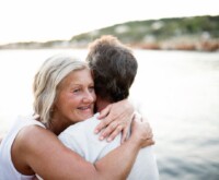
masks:
[[[100,141],[99,134],[93,130],[100,120],[95,115],[85,121],[78,122],[66,129],[59,140],[69,148],[77,152],[90,163],[95,163],[112,149],[120,145],[120,134],[111,142]],[[135,161],[135,165],[127,178],[128,180],[158,180],[159,172],[157,161],[153,155],[152,146],[142,148]]]

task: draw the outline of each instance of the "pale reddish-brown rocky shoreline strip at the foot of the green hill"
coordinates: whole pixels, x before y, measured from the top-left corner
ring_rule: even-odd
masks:
[[[189,50],[189,51],[219,51],[219,40],[166,40],[162,43],[134,43],[128,45],[134,49],[149,50]],[[85,49],[85,45],[74,45],[68,41],[56,43],[53,46],[43,43],[14,43],[1,45],[0,50],[22,50],[22,49]]]

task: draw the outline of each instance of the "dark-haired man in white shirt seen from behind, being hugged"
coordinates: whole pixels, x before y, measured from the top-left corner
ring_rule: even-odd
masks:
[[[128,97],[138,68],[137,60],[130,49],[113,36],[103,36],[91,44],[87,61],[93,73],[97,112],[107,105]],[[108,152],[119,146],[122,141],[122,133],[111,143],[100,141],[97,134],[93,132],[100,123],[96,116],[97,113],[89,120],[71,125],[59,135],[66,146],[91,163],[104,157]],[[117,130],[119,130],[119,125]],[[142,148],[137,156],[128,176],[128,180],[136,179],[159,179],[151,146]]]

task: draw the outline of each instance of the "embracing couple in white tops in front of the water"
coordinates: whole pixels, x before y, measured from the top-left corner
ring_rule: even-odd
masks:
[[[152,130],[128,100],[138,63],[113,36],[85,61],[48,58],[33,84],[34,115],[0,144],[0,180],[158,180]]]

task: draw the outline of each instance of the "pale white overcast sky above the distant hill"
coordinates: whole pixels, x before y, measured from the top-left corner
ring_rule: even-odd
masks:
[[[218,0],[0,0],[0,45],[68,40],[128,21],[219,15]]]

